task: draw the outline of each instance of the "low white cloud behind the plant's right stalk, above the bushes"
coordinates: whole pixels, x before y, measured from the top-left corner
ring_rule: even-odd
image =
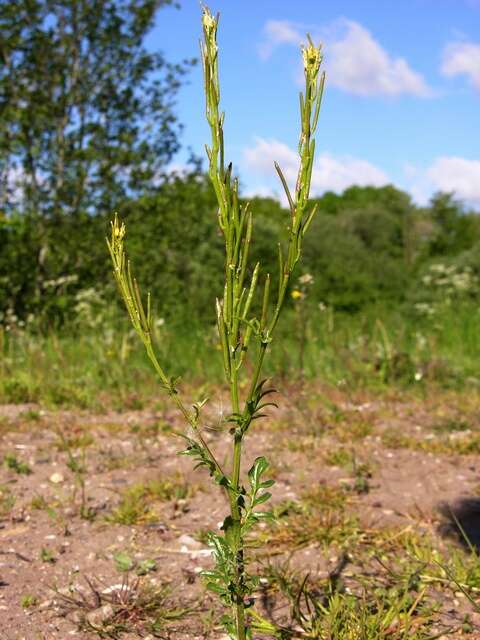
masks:
[[[290,190],[295,188],[299,157],[283,142],[257,138],[252,147],[244,149],[243,159],[249,171],[269,178],[276,176],[273,163],[278,162]],[[389,182],[381,169],[366,160],[322,154],[313,167],[311,190],[312,195],[319,195],[324,191],[340,192],[353,184],[382,186]]]

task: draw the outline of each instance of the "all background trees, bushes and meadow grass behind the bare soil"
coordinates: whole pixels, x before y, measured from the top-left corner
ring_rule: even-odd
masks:
[[[104,241],[113,210],[128,222],[165,358],[198,379],[220,373],[215,197],[198,159],[166,173],[180,145],[175,97],[194,61],[143,44],[165,4],[0,0],[2,401],[88,405],[115,389],[138,402],[139,377],[153,393],[118,313]],[[253,262],[275,274],[287,210],[251,204]],[[453,194],[419,207],[393,186],[328,192],[318,208],[277,370],[334,384],[477,384],[478,213]]]

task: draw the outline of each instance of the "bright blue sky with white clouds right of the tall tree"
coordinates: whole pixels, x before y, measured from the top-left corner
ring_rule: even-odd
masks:
[[[244,193],[293,180],[300,43],[323,42],[327,83],[312,190],[387,184],[419,203],[436,190],[480,206],[480,0],[217,0],[227,157]],[[162,9],[148,38],[171,61],[198,56],[201,10]],[[204,155],[201,67],[179,96],[190,147]]]

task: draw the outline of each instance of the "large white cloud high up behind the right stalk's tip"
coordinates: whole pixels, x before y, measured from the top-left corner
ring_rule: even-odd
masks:
[[[268,58],[282,44],[298,46],[307,28],[288,21],[270,20],[265,25],[262,58]],[[432,94],[423,76],[404,58],[393,58],[358,22],[338,20],[323,33],[313,30],[315,40],[325,42],[328,83],[360,96],[427,97]]]

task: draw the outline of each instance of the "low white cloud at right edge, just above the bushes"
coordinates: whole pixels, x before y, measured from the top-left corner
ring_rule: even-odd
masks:
[[[435,189],[454,191],[462,200],[480,205],[480,160],[443,156],[432,163],[427,176]]]

